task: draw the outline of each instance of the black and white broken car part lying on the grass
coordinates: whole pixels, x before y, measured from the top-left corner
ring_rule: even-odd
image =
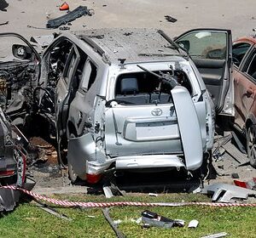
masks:
[[[172,228],[174,226],[183,227],[185,222],[183,220],[172,220],[158,215],[157,213],[145,210],[142,212],[143,228],[148,228],[150,226],[162,227],[162,228]]]

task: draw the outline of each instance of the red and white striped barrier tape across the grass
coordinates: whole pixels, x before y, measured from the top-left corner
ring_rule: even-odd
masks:
[[[2,188],[10,190],[20,190],[33,198],[61,207],[182,207],[182,206],[207,206],[207,207],[256,207],[256,203],[220,203],[220,202],[136,202],[136,201],[115,201],[115,202],[84,202],[84,201],[61,201],[55,198],[49,198],[44,195],[38,195],[29,190],[16,188],[15,186],[3,186]]]

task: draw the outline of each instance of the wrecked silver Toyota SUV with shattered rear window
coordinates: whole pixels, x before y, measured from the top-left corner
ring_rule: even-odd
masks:
[[[215,31],[209,32],[214,37]],[[223,82],[230,72],[229,54],[223,51],[230,36],[220,34],[222,51],[213,48],[215,59],[208,57],[204,74],[218,79],[209,87],[219,98],[222,91],[227,94]],[[187,39],[179,40],[173,42],[163,31],[103,29],[63,34],[44,52],[41,82],[47,87],[58,78],[59,156],[67,149],[73,181],[96,183],[108,169],[192,172],[207,160],[215,109],[186,52],[191,44],[188,48]],[[49,71],[55,77],[50,79]],[[221,111],[224,102],[217,97],[215,102]]]

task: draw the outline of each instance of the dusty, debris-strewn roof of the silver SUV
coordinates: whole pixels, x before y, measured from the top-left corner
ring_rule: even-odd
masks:
[[[90,44],[100,48],[113,64],[119,64],[119,59],[125,59],[125,63],[166,61],[186,55],[156,29],[104,28],[77,31],[75,35],[84,42],[89,38]]]

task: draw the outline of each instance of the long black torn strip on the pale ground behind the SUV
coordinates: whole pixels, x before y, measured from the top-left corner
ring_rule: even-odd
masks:
[[[79,6],[78,8],[75,8],[73,11],[62,15],[58,18],[48,20],[46,27],[47,28],[57,28],[61,25],[67,24],[67,22],[73,21],[85,14],[91,15],[90,10],[85,6]]]

